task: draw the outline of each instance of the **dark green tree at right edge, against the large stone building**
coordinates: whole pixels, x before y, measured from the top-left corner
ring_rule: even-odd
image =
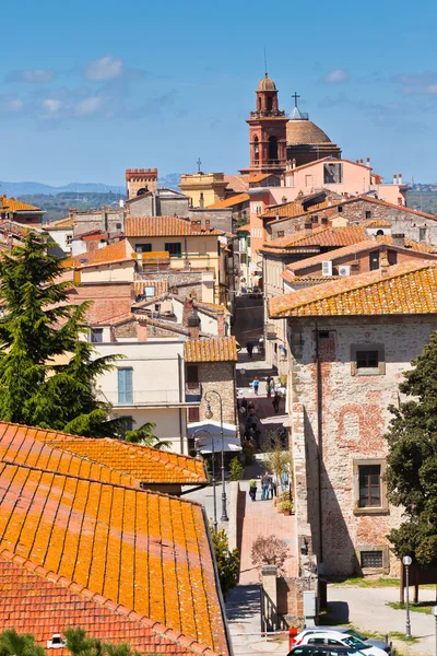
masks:
[[[399,557],[437,564],[437,332],[412,363],[399,386],[409,398],[390,406],[394,415],[386,435],[389,501],[403,507],[405,520],[388,536]]]

